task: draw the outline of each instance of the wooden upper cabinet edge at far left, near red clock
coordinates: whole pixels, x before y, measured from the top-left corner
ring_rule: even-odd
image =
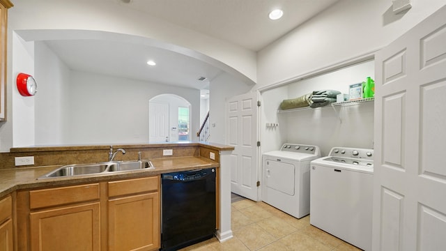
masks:
[[[8,52],[8,8],[13,7],[9,0],[0,0],[0,121],[6,120],[6,54]]]

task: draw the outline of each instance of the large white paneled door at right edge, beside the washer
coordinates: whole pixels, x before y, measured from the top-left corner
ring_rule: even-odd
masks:
[[[376,57],[373,250],[446,250],[446,6]]]

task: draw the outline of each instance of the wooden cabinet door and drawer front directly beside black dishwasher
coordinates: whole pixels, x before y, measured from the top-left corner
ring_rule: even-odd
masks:
[[[160,248],[160,177],[108,183],[109,250]]]

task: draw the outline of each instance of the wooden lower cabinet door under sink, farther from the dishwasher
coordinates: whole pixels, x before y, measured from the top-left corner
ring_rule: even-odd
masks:
[[[100,204],[33,212],[31,250],[100,250]]]

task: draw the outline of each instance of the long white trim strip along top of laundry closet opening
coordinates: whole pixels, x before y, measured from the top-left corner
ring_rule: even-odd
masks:
[[[375,58],[376,52],[378,52],[380,49],[372,50],[371,52],[367,52],[365,54],[361,54],[359,56],[355,56],[351,59],[346,59],[344,61],[339,61],[338,63],[333,63],[328,66],[324,66],[322,68],[318,68],[316,70],[312,70],[308,73],[304,73],[302,75],[298,75],[296,77],[291,77],[289,79],[282,80],[280,82],[277,82],[275,84],[270,84],[268,86],[263,86],[259,89],[257,89],[260,93],[263,91],[268,91],[270,89],[274,89],[280,86],[283,86],[285,84],[290,84],[293,82],[297,82],[299,80],[308,79],[310,77],[316,77],[318,75],[323,75],[326,73],[333,72],[334,70],[339,70],[341,68],[345,68],[347,66],[353,66],[356,63],[362,63],[365,61],[373,60]]]

